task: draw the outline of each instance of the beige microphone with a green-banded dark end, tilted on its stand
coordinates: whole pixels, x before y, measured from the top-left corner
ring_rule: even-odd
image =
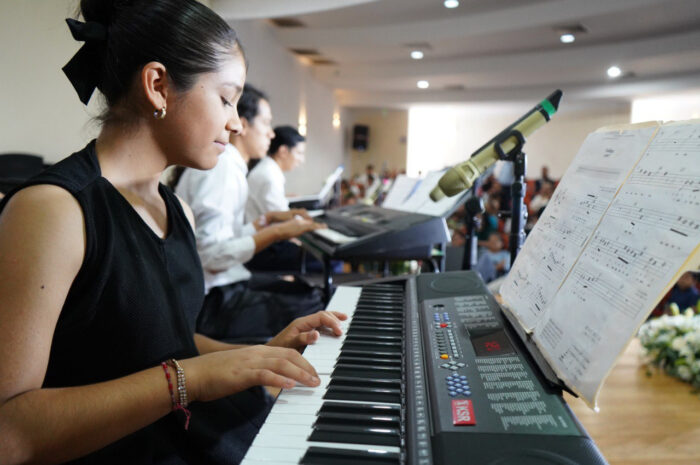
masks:
[[[498,141],[504,153],[510,152],[518,144],[518,139],[512,135],[512,131],[519,131],[523,137],[527,137],[550,120],[552,115],[559,109],[562,91],[557,89],[536,105],[532,110],[525,113],[519,120],[498,133],[493,139],[484,144],[465,162],[450,168],[438,181],[438,185],[430,192],[430,198],[437,202],[445,196],[463,192],[474,184],[474,181],[481,176],[486,168],[496,163],[498,153],[495,145]],[[509,136],[509,134],[511,134]],[[503,138],[507,137],[505,140]]]

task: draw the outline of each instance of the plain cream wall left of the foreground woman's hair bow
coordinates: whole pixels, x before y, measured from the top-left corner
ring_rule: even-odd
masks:
[[[0,152],[30,152],[55,162],[97,134],[61,71],[82,44],[65,23],[76,5],[76,0],[0,2]]]

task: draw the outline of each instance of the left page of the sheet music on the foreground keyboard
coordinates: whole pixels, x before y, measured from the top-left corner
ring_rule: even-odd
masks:
[[[503,300],[528,332],[657,127],[597,131],[584,141],[501,287]]]

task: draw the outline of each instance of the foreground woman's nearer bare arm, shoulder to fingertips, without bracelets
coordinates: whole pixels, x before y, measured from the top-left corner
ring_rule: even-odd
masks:
[[[82,211],[55,186],[16,194],[0,215],[0,457],[61,463],[97,450],[167,414],[159,366],[88,386],[42,389],[51,341],[82,264]],[[317,385],[296,351],[228,350],[182,361],[190,398],[212,400],[247,387]]]

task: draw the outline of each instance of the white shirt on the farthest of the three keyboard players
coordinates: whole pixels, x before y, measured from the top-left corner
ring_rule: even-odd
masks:
[[[248,175],[246,220],[253,221],[267,212],[289,210],[289,201],[284,195],[284,183],[282,168],[272,157],[260,160]]]

